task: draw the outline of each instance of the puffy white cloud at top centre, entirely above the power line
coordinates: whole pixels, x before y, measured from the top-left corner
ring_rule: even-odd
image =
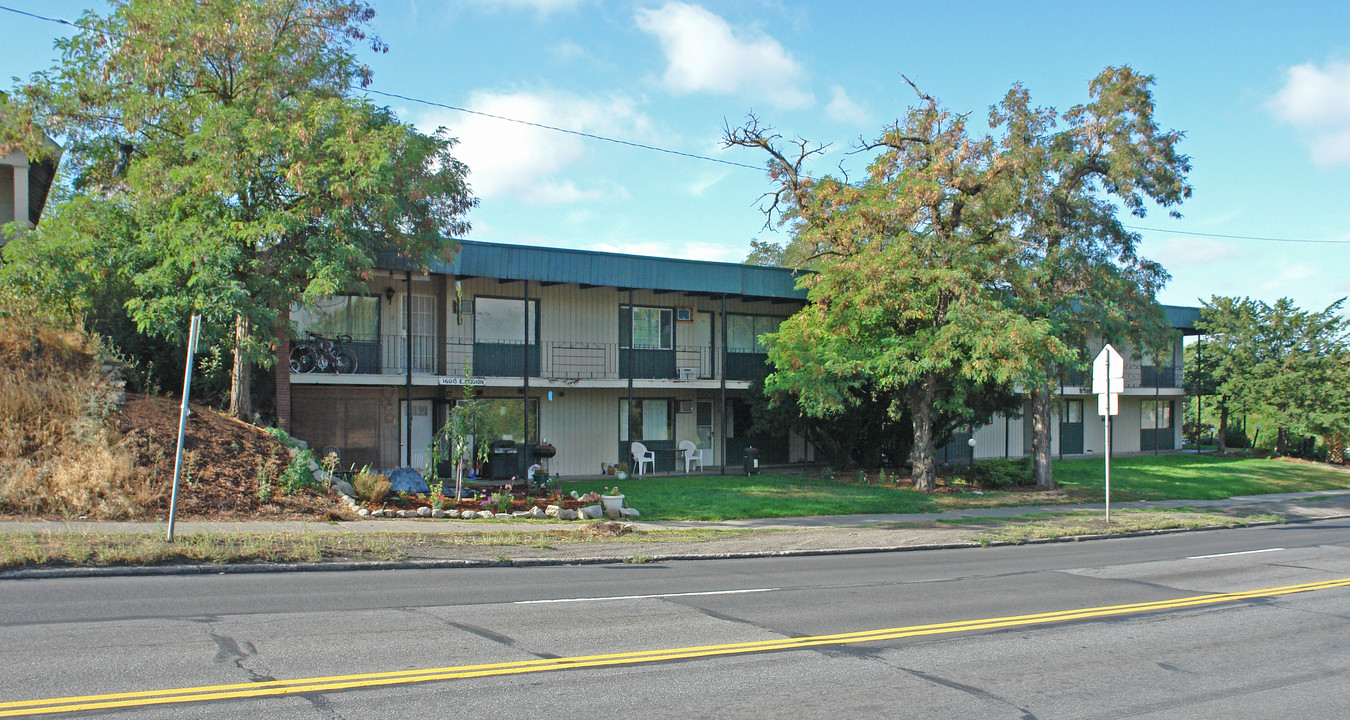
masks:
[[[810,105],[802,66],[778,41],[757,31],[733,32],[699,5],[667,3],[637,12],[637,27],[656,35],[666,53],[666,86],[679,95],[744,93],[782,108]]]

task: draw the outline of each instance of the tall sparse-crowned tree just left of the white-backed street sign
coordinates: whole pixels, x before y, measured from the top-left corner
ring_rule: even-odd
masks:
[[[1139,238],[1112,203],[1142,217],[1148,201],[1173,207],[1191,196],[1191,163],[1176,150],[1183,135],[1158,128],[1150,85],[1152,76],[1107,68],[1088,85],[1089,101],[1062,115],[1033,108],[1021,85],[990,109],[990,126],[1003,132],[994,162],[1003,170],[1007,222],[1027,269],[1017,303],[1027,317],[1048,320],[1071,347],[1104,336],[1149,351],[1169,339],[1154,300],[1169,276],[1138,255]],[[1072,365],[1081,369],[1088,359]],[[1029,385],[1033,474],[1038,486],[1054,488],[1052,384],[1068,367],[1052,354],[1038,361],[1041,381]]]

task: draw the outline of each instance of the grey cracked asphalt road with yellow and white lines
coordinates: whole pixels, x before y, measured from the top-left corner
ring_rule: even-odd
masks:
[[[711,562],[15,580],[0,581],[0,716],[1343,719],[1347,647],[1347,520]]]

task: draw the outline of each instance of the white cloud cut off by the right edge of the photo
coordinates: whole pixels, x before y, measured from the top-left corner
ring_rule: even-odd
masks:
[[[1350,165],[1350,62],[1289,68],[1270,109],[1307,132],[1314,162]]]

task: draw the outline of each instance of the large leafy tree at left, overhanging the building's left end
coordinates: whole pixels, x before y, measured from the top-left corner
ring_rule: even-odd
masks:
[[[12,103],[20,126],[66,138],[76,193],[14,250],[14,281],[34,286],[90,217],[116,215],[78,263],[134,288],[126,307],[144,331],[177,336],[190,312],[231,326],[230,412],[247,417],[251,367],[271,362],[290,303],[348,288],[381,250],[448,250],[477,203],[443,130],[423,135],[352,95],[371,76],[354,46],[385,50],[366,34],[373,16],[355,0],[86,12]]]

